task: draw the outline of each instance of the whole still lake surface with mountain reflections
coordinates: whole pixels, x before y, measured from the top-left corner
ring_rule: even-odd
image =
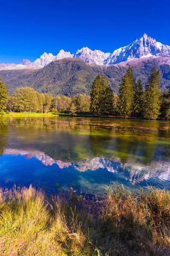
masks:
[[[80,117],[0,118],[0,185],[103,192],[119,181],[130,189],[170,189],[170,122]]]

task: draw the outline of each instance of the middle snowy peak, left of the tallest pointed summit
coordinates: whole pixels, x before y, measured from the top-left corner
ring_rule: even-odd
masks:
[[[100,50],[92,51],[88,47],[83,47],[82,49],[78,50],[73,58],[81,58],[87,64],[97,64],[103,65],[105,60],[111,55],[111,53],[102,52]]]

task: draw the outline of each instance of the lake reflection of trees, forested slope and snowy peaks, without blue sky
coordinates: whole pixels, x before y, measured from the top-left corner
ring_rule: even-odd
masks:
[[[40,160],[44,152],[55,160],[77,163],[75,166],[80,171],[107,168],[109,172],[119,172],[133,184],[145,180],[147,172],[148,177],[155,177],[156,169],[159,171],[162,167],[160,160],[165,163],[170,158],[170,130],[162,128],[159,122],[156,125],[153,122],[156,129],[151,129],[152,122],[122,119],[107,122],[95,118],[6,120],[0,123],[1,155],[9,134],[9,148],[28,152],[35,149],[41,154],[36,152]],[[109,123],[112,126],[109,127]],[[46,161],[51,159],[47,157]]]

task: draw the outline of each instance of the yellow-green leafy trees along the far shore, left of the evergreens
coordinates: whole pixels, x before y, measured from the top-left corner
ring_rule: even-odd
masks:
[[[52,111],[75,114],[76,112],[89,111],[90,96],[80,94],[72,96],[71,98],[66,96],[52,97],[52,95],[48,93],[37,93],[30,87],[17,88],[17,90],[9,96],[6,84],[0,80],[0,112],[5,109],[10,112],[21,113],[47,113],[48,111]]]

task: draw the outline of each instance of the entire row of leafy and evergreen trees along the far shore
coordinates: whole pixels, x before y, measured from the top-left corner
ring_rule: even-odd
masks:
[[[33,88],[21,87],[8,95],[7,85],[0,79],[0,112],[91,112],[95,116],[120,115],[145,119],[157,119],[159,116],[170,118],[170,88],[161,93],[160,71],[155,67],[150,71],[144,86],[137,81],[131,66],[127,68],[119,85],[119,96],[113,94],[109,81],[103,74],[96,76],[92,84],[91,96],[79,94],[71,98],[52,97],[48,93],[38,93]]]

